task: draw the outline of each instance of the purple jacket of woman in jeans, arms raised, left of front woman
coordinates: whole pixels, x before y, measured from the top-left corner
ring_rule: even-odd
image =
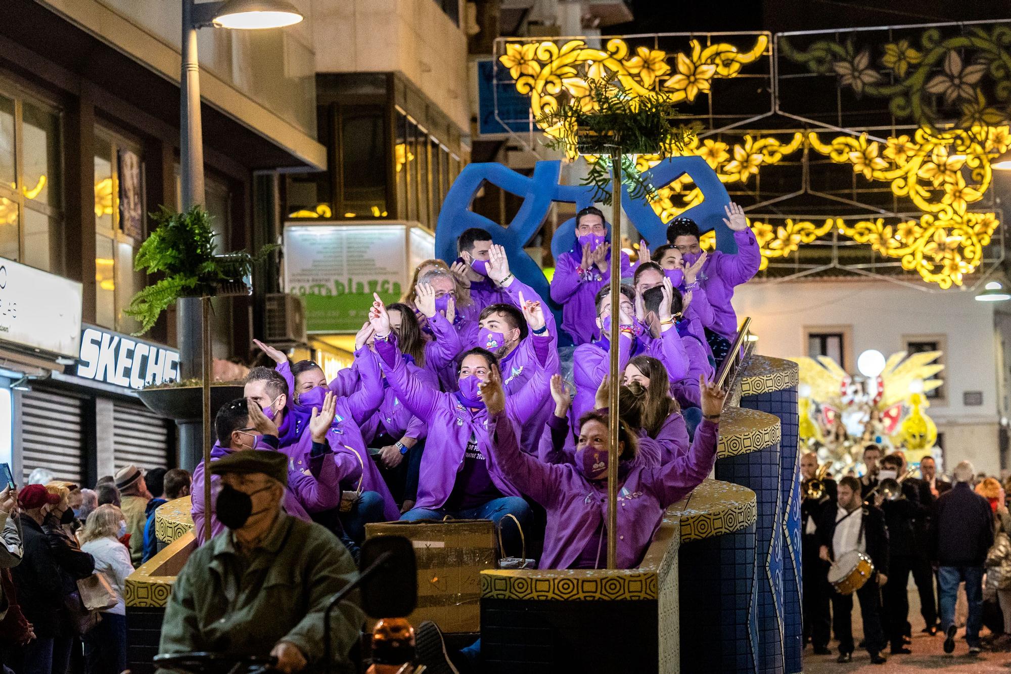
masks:
[[[545,343],[548,338],[539,339]],[[416,416],[429,420],[429,438],[422,455],[416,508],[441,508],[456,484],[456,474],[463,468],[467,442],[473,435],[481,452],[488,455],[487,411],[468,408],[456,394],[436,391],[422,384],[404,366],[396,345],[391,340],[376,340],[376,352],[382,357],[386,377],[397,398]],[[549,388],[549,377],[543,367],[517,395],[508,399],[510,416],[523,425],[535,412],[537,402]],[[520,492],[502,478],[488,462],[488,475],[495,488],[507,496]]]

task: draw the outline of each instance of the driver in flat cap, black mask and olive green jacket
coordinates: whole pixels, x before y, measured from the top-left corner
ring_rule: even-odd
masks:
[[[215,512],[227,529],[196,549],[176,578],[160,651],[269,654],[286,674],[321,671],[324,611],[356,576],[351,555],[319,524],[283,511],[284,454],[237,451],[209,472],[220,477]],[[354,601],[334,610],[334,671],[354,671],[348,653],[363,621]]]

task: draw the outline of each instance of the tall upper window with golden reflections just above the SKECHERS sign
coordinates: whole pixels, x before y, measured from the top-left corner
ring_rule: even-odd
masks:
[[[145,283],[133,270],[144,241],[144,165],[141,151],[105,130],[95,132],[95,322],[130,333],[140,324],[124,313]]]

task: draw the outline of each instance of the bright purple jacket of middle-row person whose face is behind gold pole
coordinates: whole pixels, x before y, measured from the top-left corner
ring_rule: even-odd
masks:
[[[671,383],[684,378],[688,371],[688,355],[684,350],[682,339],[675,328],[668,328],[659,339],[640,336],[636,340],[637,351],[653,356],[667,368],[667,376]],[[645,342],[645,346],[643,343]],[[619,371],[625,370],[632,353],[632,339],[622,335],[618,340]],[[705,357],[703,358],[707,363]],[[572,377],[575,384],[575,397],[572,400],[572,418],[578,419],[584,412],[593,409],[593,399],[601,382],[611,371],[611,356],[607,349],[598,344],[580,344],[573,353]]]

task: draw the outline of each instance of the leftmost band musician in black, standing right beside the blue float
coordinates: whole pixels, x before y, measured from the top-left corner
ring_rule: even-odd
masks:
[[[835,511],[836,485],[831,478],[820,480],[821,495],[812,482],[817,478],[818,454],[813,451],[801,456],[801,565],[804,572],[804,645],[811,642],[815,655],[828,655],[831,637],[828,584],[828,563],[818,557],[818,521],[825,510]]]

